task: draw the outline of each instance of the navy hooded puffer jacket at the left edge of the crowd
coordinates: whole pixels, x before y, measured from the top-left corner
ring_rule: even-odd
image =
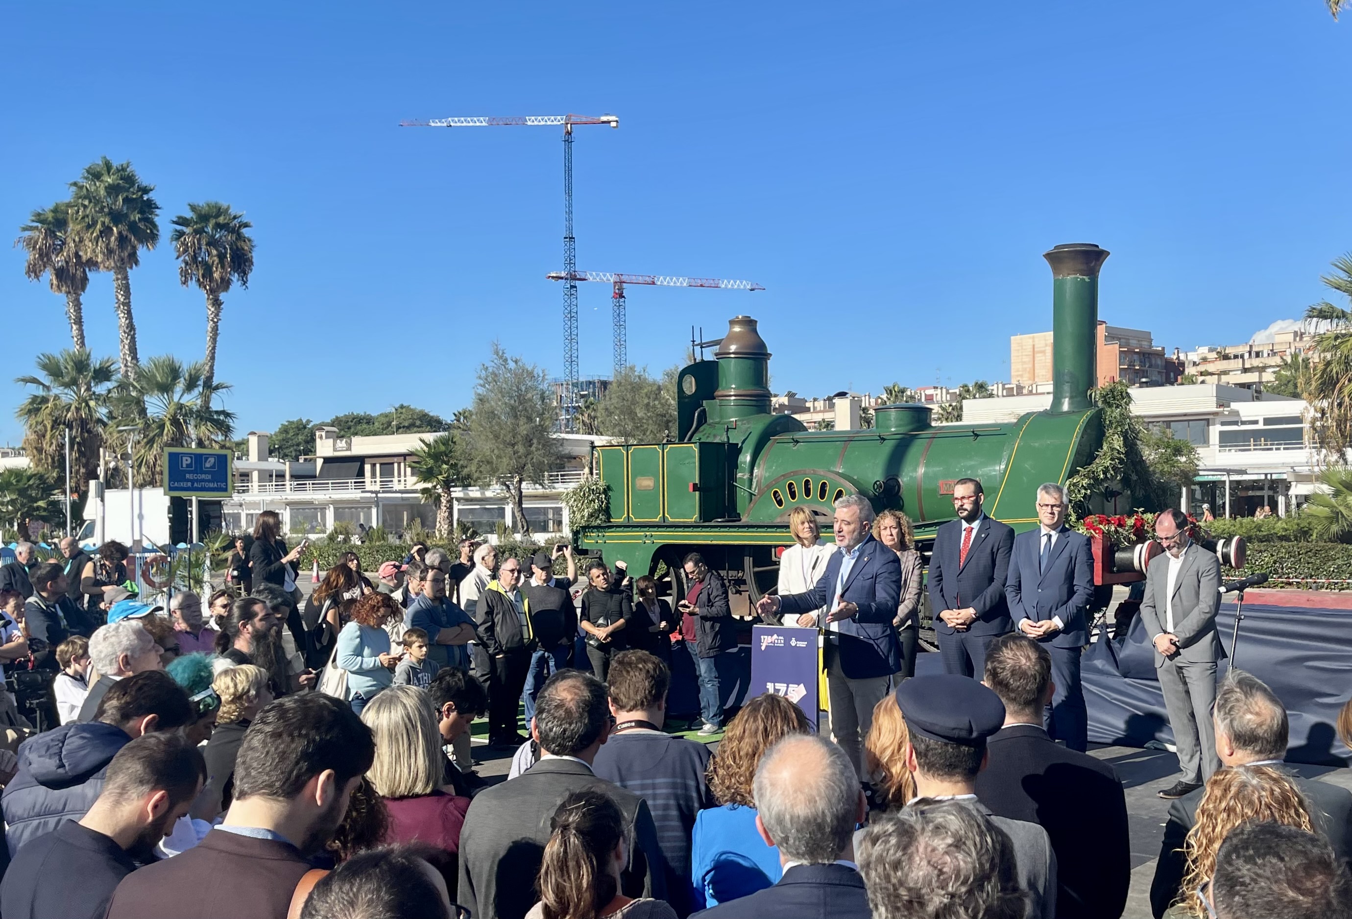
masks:
[[[130,742],[120,727],[101,722],[62,724],[24,741],[19,772],[0,797],[9,854],[88,814],[103,791],[108,764]]]

